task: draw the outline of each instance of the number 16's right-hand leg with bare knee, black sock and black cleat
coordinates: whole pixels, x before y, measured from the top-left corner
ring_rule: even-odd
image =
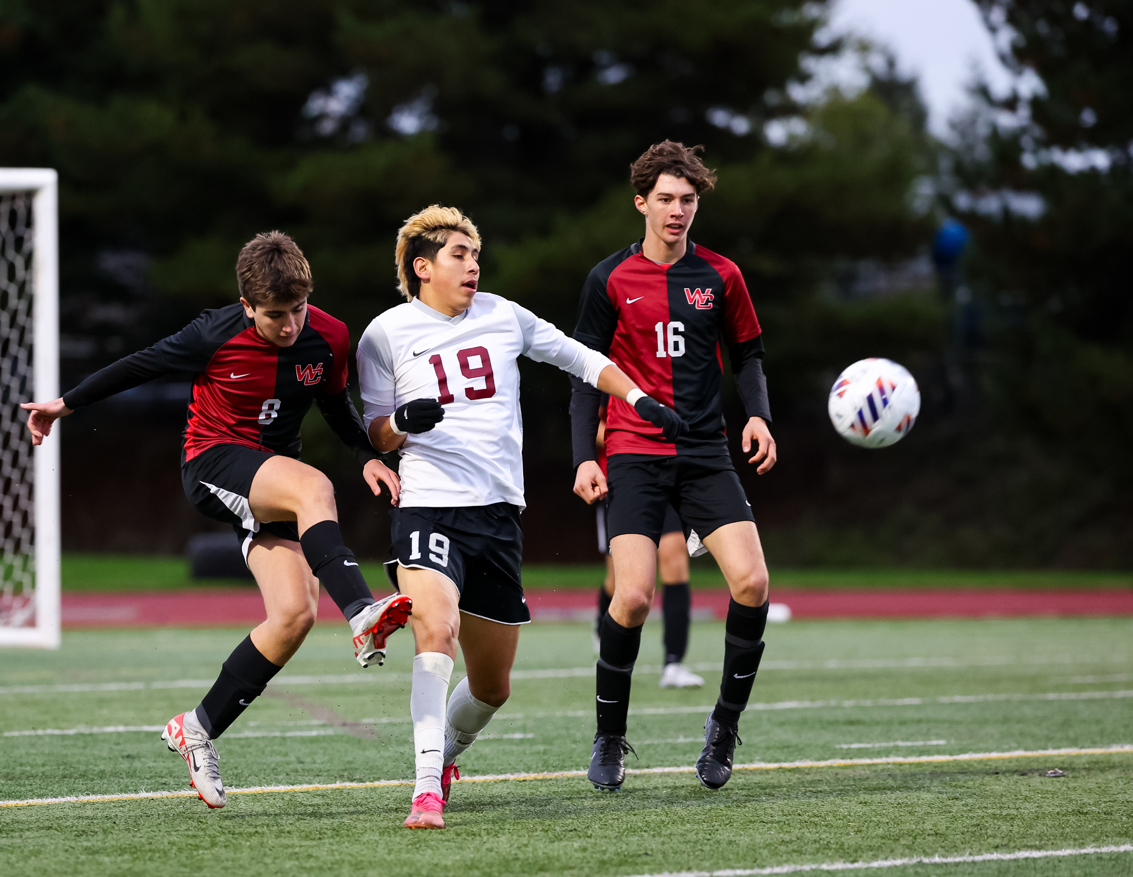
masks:
[[[704,538],[719,564],[732,598],[724,636],[724,673],[719,698],[705,722],[705,748],[697,759],[697,778],[719,789],[732,776],[732,756],[740,734],[740,713],[764,654],[767,627],[767,563],[759,533],[751,521],[726,523]]]

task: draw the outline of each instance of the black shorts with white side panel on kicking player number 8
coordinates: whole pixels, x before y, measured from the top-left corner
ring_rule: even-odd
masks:
[[[194,508],[214,521],[231,523],[240,540],[244,560],[257,533],[299,540],[295,521],[257,521],[252,517],[248,494],[259,467],[275,454],[242,444],[216,444],[181,463],[181,484]]]

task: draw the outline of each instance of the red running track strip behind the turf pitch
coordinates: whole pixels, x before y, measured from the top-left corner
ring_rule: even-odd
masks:
[[[724,618],[727,593],[693,590],[695,618]],[[539,621],[589,619],[593,590],[527,591]],[[1131,590],[791,590],[776,588],[774,603],[795,619],[1022,618],[1032,615],[1133,615]],[[320,621],[341,619],[325,593]],[[65,628],[253,625],[264,620],[264,604],[252,588],[182,591],[63,594]]]

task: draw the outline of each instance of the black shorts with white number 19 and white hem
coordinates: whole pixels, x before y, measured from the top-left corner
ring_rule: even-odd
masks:
[[[527,624],[520,565],[523,530],[519,508],[506,502],[452,509],[393,509],[386,570],[395,565],[440,572],[457,586],[460,611],[501,624]],[[395,577],[390,576],[397,587]]]

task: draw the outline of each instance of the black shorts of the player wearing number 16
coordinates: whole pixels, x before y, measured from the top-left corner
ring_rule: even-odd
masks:
[[[755,521],[730,457],[616,453],[607,462],[610,538],[630,533],[659,543],[666,508],[680,516],[685,538],[704,539],[725,523]],[[690,547],[692,542],[690,540]]]

